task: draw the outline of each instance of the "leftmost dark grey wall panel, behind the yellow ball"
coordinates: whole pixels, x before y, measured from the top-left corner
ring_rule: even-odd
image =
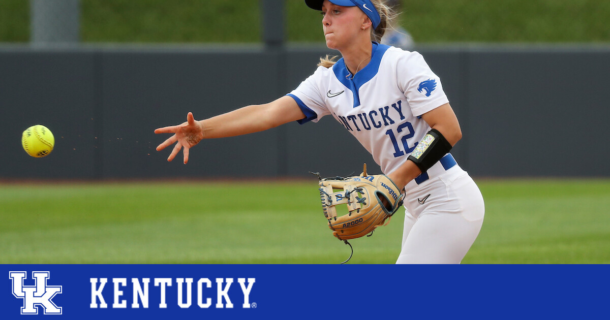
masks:
[[[0,52],[0,177],[37,179],[93,177],[95,64],[83,52]],[[32,158],[21,132],[43,124],[56,148]]]

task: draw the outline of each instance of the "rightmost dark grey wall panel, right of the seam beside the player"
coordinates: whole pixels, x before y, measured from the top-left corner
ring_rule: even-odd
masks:
[[[467,70],[475,174],[610,175],[610,51],[470,52]]]

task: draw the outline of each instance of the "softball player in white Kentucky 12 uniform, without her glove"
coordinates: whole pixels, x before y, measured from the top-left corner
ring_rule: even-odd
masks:
[[[342,59],[321,59],[291,93],[268,104],[163,127],[176,143],[168,161],[204,138],[258,132],[330,115],[404,187],[403,241],[397,263],[460,263],[481,229],[483,197],[450,154],[461,138],[439,77],[417,52],[379,44],[393,13],[382,0],[306,0],[321,10],[326,45]],[[256,120],[256,121],[254,121]]]

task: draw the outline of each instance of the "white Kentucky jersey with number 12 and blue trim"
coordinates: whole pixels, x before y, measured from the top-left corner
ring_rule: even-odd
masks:
[[[318,67],[288,95],[306,115],[299,123],[332,115],[389,174],[430,130],[420,116],[449,101],[421,54],[372,45],[371,61],[355,76],[340,59]]]

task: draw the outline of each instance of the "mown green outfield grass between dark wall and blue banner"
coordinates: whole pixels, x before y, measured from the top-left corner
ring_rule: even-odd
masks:
[[[476,180],[476,179],[475,179]],[[478,180],[483,229],[462,263],[610,263],[610,180]],[[316,182],[0,184],[0,263],[321,263]],[[350,263],[394,263],[403,214],[351,241]]]

